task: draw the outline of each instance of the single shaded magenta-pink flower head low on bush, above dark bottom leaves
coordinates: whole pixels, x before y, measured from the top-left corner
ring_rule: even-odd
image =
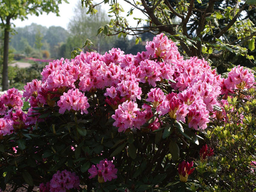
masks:
[[[116,179],[117,169],[115,165],[113,165],[112,161],[108,161],[107,159],[100,161],[96,166],[92,165],[88,172],[91,174],[89,177],[94,178],[98,175],[99,183],[107,182],[107,180],[111,181],[112,179]]]

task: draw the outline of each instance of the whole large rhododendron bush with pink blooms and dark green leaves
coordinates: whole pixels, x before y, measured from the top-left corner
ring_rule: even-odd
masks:
[[[24,86],[28,109],[15,88],[3,94],[1,187],[168,191],[175,181],[192,187],[193,160],[213,156],[212,148],[198,146],[207,127],[228,121],[230,97],[252,88],[254,76],[238,66],[221,78],[204,59],[184,59],[163,34],[145,48],[50,62],[42,79]]]

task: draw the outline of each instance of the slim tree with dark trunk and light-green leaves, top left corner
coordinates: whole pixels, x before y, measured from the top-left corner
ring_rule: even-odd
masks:
[[[8,51],[11,20],[24,20],[29,14],[39,15],[54,12],[58,15],[58,5],[67,0],[0,0],[0,27],[4,29],[2,90],[8,89]]]

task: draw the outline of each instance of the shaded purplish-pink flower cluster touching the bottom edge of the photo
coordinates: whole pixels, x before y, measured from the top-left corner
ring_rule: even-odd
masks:
[[[46,185],[41,183],[39,188],[40,192],[66,192],[69,189],[79,189],[79,177],[76,173],[64,170],[58,171],[52,176],[52,180],[47,182]]]

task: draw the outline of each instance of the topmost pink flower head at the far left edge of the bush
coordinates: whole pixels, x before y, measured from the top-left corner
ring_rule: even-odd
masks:
[[[12,88],[7,90],[7,93],[3,94],[0,97],[1,102],[6,107],[13,108],[15,106],[17,107],[22,107],[23,106],[23,101],[21,99],[22,95],[20,94],[19,90]]]

